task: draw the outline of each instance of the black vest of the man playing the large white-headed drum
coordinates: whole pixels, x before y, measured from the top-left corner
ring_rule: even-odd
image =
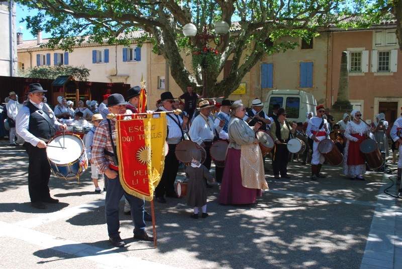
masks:
[[[49,117],[50,122],[45,120],[39,113],[37,113],[37,110],[40,110],[36,106],[34,106],[31,102],[28,102],[27,107],[29,108],[30,116],[29,116],[29,125],[28,125],[28,131],[33,134],[34,136],[38,138],[44,138],[49,140],[53,136],[56,135],[56,129],[54,127],[54,122],[53,118],[50,118],[48,111],[41,110],[43,111],[44,114],[46,114]],[[53,117],[53,115],[52,115]]]

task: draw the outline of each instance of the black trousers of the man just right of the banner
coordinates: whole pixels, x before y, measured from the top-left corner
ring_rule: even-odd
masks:
[[[163,195],[174,196],[174,181],[176,180],[177,170],[179,169],[179,161],[176,159],[176,144],[169,144],[169,152],[165,157],[165,167],[158,186],[155,188],[155,196],[163,197]]]

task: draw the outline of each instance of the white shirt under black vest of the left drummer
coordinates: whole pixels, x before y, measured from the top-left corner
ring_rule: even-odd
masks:
[[[53,114],[53,121],[54,125],[56,126],[57,129],[60,129],[60,125],[62,125],[60,122],[57,121],[56,116],[54,115],[54,112],[50,109],[49,105],[46,103],[34,103],[31,100],[29,100],[35,107],[39,108],[40,110],[47,110],[50,111],[51,114]],[[29,128],[29,116],[31,115],[29,108],[24,106],[17,114],[16,117],[16,132],[19,136],[21,136],[26,142],[31,143],[34,147],[39,143],[40,139],[31,134],[28,131]]]

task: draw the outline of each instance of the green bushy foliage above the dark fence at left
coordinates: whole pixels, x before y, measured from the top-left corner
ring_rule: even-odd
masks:
[[[75,67],[69,65],[57,66],[39,66],[20,70],[19,77],[39,78],[39,79],[55,79],[58,76],[72,76],[78,81],[87,81],[89,77],[89,69],[84,66]]]

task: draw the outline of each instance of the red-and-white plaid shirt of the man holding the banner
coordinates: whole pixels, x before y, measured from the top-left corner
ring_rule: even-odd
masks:
[[[113,144],[116,146],[116,122],[111,120],[112,125],[112,139]],[[109,168],[109,164],[113,164],[113,159],[111,156],[105,155],[104,150],[113,153],[112,143],[110,141],[109,126],[108,121],[103,120],[99,123],[93,134],[93,144],[92,144],[92,161],[96,168],[101,173],[105,173],[105,170]],[[117,166],[117,165],[115,165]]]

